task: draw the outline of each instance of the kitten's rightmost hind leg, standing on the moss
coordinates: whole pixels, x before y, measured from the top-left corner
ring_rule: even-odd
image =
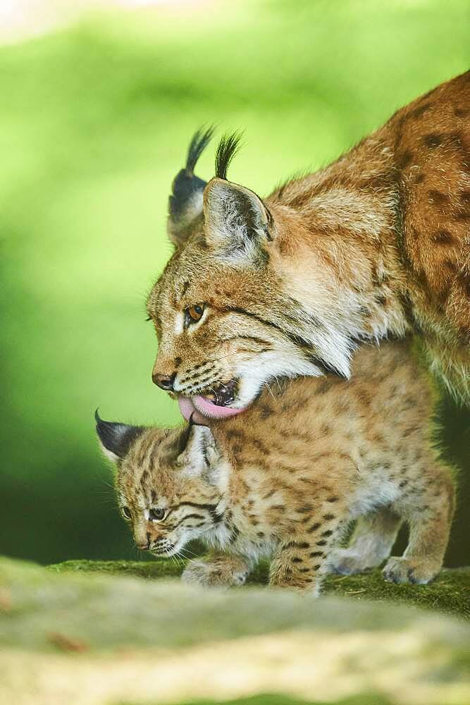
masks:
[[[409,544],[402,558],[390,558],[383,569],[390,582],[426,583],[443,565],[454,513],[454,484],[450,472],[435,465],[419,479],[407,479],[405,501]]]

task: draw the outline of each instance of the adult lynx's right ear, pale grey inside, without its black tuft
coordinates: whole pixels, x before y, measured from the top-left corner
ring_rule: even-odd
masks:
[[[245,186],[213,178],[204,190],[204,235],[213,250],[233,264],[256,261],[272,240],[271,214]]]

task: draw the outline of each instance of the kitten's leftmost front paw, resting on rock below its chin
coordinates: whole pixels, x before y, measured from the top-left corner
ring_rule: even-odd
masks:
[[[242,585],[252,569],[249,560],[229,553],[209,553],[206,558],[190,560],[181,579],[206,587]]]

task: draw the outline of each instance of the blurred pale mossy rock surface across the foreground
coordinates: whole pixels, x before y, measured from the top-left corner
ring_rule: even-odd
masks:
[[[469,624],[385,601],[408,601],[403,586],[379,594],[377,575],[331,578],[333,594],[314,600],[256,586],[204,591],[174,580],[179,570],[1,559],[0,702],[468,702]],[[409,589],[443,609],[438,586],[452,591],[468,615],[468,584],[468,570],[446,571],[433,586]]]

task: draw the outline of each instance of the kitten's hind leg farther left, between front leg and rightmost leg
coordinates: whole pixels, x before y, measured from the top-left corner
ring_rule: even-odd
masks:
[[[352,575],[381,565],[390,556],[401,523],[388,507],[359,517],[347,548],[333,548],[328,556],[330,570]]]

